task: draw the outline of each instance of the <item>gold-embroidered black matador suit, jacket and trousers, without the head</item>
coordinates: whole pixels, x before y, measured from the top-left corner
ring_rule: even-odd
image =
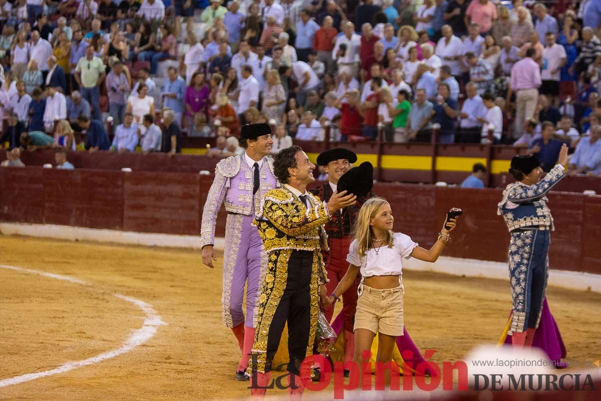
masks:
[[[252,353],[256,369],[272,370],[272,360],[288,323],[288,372],[300,375],[302,361],[313,355],[320,284],[328,282],[321,246],[328,207],[308,194],[303,203],[286,186],[267,192],[253,224],[267,252],[267,271],[258,299]],[[323,245],[326,246],[326,245]]]

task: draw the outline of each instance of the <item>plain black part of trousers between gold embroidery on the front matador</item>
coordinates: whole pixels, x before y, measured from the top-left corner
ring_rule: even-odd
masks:
[[[286,370],[300,375],[302,361],[307,357],[309,331],[311,328],[311,251],[292,251],[288,260],[288,280],[284,295],[273,314],[267,337],[265,372],[272,370],[272,361],[279,347],[285,323],[288,323],[288,355],[290,363]],[[276,279],[277,280],[277,279]]]

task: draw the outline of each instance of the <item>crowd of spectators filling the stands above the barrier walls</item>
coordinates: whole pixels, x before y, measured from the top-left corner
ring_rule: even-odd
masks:
[[[274,148],[430,142],[438,124],[545,168],[567,142],[570,170],[599,174],[601,0],[0,2],[10,149],[177,153],[188,135],[227,155],[246,123]]]

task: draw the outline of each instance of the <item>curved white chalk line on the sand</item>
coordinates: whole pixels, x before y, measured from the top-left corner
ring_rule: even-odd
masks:
[[[42,275],[44,277],[56,278],[57,280],[65,280],[65,281],[69,281],[71,283],[82,284],[84,286],[90,285],[87,282],[85,282],[84,280],[79,280],[78,278],[73,278],[73,277],[59,275],[59,274],[47,273],[47,272],[42,272],[42,271],[37,271],[37,270],[32,270],[32,269],[17,268],[16,266],[7,266],[7,265],[0,265],[0,268],[10,269],[10,270],[14,270],[14,271],[21,271],[21,272],[26,272],[26,273],[31,273],[31,274],[38,274],[38,275]],[[59,373],[69,372],[70,370],[73,370],[73,369],[78,369],[78,368],[84,367],[84,366],[90,366],[92,364],[96,364],[96,363],[102,362],[104,360],[108,360],[111,358],[118,357],[119,355],[126,354],[127,352],[130,352],[135,347],[137,347],[141,344],[144,344],[146,341],[150,340],[150,338],[152,338],[154,336],[154,334],[156,334],[156,331],[159,328],[159,326],[163,326],[163,325],[167,324],[167,323],[163,322],[163,320],[161,320],[159,314],[156,313],[156,311],[153,309],[152,305],[147,304],[144,301],[140,301],[139,299],[132,298],[130,296],[125,296],[125,295],[121,295],[118,293],[115,293],[113,295],[116,296],[117,298],[123,299],[124,301],[130,302],[130,303],[136,305],[145,314],[144,324],[142,325],[142,327],[139,329],[133,330],[132,334],[130,334],[130,336],[127,338],[127,340],[121,347],[107,351],[107,352],[103,352],[102,354],[95,355],[94,357],[90,357],[85,360],[67,362],[59,367],[55,367],[54,369],[50,369],[50,370],[44,370],[43,372],[26,373],[25,375],[15,376],[14,378],[2,379],[2,380],[0,380],[0,388],[7,387],[10,385],[14,385],[14,384],[28,382],[28,381],[31,381],[34,379],[44,378],[46,376],[58,375]]]

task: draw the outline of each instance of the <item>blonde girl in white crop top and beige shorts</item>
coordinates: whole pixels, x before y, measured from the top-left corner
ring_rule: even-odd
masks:
[[[451,219],[438,234],[430,249],[418,246],[402,233],[392,231],[394,218],[388,201],[380,197],[367,200],[355,223],[355,240],[350,244],[347,262],[349,270],[330,296],[323,295],[322,303],[329,306],[352,285],[359,271],[357,311],[355,314],[355,355],[353,360],[364,362],[362,352],[371,349],[378,337],[378,362],[392,360],[392,350],[398,335],[403,335],[403,259],[415,257],[424,262],[436,262],[442,253],[456,219]],[[361,366],[361,365],[359,365]]]

